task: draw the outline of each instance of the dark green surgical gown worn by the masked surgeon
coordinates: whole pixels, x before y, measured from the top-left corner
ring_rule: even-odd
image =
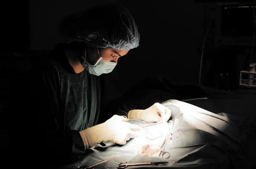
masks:
[[[64,44],[29,70],[25,110],[41,165],[72,163],[86,152],[79,131],[97,124],[100,80],[84,69],[76,74],[64,55]],[[33,128],[35,126],[28,125]]]

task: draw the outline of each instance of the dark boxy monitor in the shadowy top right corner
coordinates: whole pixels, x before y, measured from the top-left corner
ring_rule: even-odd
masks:
[[[217,3],[215,7],[215,38],[217,46],[251,46],[254,34],[253,2]]]

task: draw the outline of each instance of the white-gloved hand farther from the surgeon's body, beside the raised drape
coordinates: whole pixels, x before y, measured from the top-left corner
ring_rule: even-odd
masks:
[[[160,103],[155,103],[145,110],[131,110],[129,119],[142,120],[147,123],[166,122],[171,117],[171,110]]]

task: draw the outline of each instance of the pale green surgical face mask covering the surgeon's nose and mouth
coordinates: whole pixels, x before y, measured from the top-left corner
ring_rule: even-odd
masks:
[[[99,49],[97,48],[97,50],[99,55]],[[94,65],[90,65],[90,63],[88,63],[85,58],[86,58],[86,49],[85,49],[85,57],[83,58],[84,62],[82,63],[82,65],[86,70],[88,70],[90,74],[93,74],[96,76],[99,76],[103,73],[111,73],[117,64],[115,62],[108,62],[99,56],[99,60]]]

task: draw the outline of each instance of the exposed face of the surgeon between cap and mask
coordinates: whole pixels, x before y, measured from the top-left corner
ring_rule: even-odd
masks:
[[[129,50],[117,50],[117,49],[108,47],[105,49],[99,48],[99,54],[98,54],[97,48],[87,48],[87,61],[91,65],[95,65],[95,63],[99,60],[99,56],[100,56],[108,62],[117,63],[117,60],[120,57],[125,56],[128,53],[128,51]]]

